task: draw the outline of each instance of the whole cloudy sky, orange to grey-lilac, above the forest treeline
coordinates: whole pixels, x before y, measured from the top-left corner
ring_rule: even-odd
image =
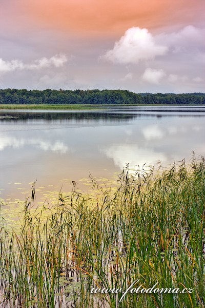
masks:
[[[204,0],[0,0],[0,88],[205,92]]]

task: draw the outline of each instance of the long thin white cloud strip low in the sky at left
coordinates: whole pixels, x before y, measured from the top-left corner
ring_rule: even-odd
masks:
[[[65,54],[56,54],[50,58],[42,57],[34,60],[32,63],[24,63],[20,60],[4,61],[0,58],[0,72],[10,72],[14,70],[39,70],[50,66],[60,67],[68,61]]]

